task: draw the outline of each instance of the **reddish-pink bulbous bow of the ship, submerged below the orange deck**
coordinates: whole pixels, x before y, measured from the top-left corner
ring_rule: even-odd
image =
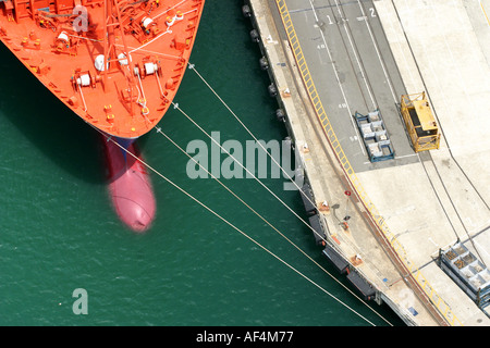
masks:
[[[142,159],[134,141],[118,140],[128,152]],[[105,137],[102,142],[114,210],[127,227],[144,233],[151,226],[157,210],[149,174],[137,159],[118,145]]]

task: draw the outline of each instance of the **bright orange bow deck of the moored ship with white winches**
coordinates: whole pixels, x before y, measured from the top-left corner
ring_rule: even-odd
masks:
[[[0,39],[84,121],[137,138],[179,89],[204,2],[0,0]]]

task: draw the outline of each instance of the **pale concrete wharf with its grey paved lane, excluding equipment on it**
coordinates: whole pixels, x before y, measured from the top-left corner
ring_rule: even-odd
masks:
[[[408,325],[490,325],[490,307],[441,262],[463,246],[490,264],[490,0],[245,4],[317,204],[326,254],[346,264],[367,299],[388,303]],[[443,136],[438,150],[414,152],[397,103],[421,91]],[[353,121],[375,110],[395,150],[376,163]]]

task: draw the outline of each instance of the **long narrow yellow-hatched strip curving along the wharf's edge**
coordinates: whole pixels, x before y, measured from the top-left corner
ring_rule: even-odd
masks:
[[[344,173],[346,174],[347,179],[351,183],[353,190],[356,192],[359,201],[363,202],[364,207],[367,209],[370,217],[376,223],[378,229],[384,235],[385,241],[390,245],[392,250],[399,257],[399,259],[404,263],[406,270],[409,272],[411,276],[417,282],[421,290],[426,294],[426,296],[430,299],[433,306],[439,310],[439,312],[445,318],[446,322],[452,326],[463,326],[463,323],[455,316],[455,314],[451,311],[450,306],[436,293],[432,286],[429,284],[427,278],[421,274],[420,270],[415,270],[415,265],[407,258],[406,251],[403,248],[402,244],[396,239],[396,236],[390,231],[384,219],[380,215],[376,206],[369,199],[366,190],[364,189],[359,178],[357,177],[354,169],[348,162],[347,157],[345,156],[342,146],[336,138],[335,132],[327,116],[327,113],[321,103],[320,96],[318,95],[311,74],[309,73],[308,65],[306,63],[305,55],[303,54],[302,47],[299,45],[299,39],[296,36],[296,32],[294,29],[293,21],[291,20],[290,12],[287,10],[287,5],[285,0],[275,0],[278,5],[282,23],[284,25],[284,29],[287,35],[287,39],[290,42],[290,47],[293,51],[294,58],[296,60],[297,67],[301,72],[303,83],[308,91],[311,103],[315,108],[317,117],[323,127],[324,134],[327,135],[330,145],[335,152],[335,156],[343,167]]]

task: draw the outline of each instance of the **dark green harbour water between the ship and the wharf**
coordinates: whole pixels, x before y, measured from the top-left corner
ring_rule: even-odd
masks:
[[[258,48],[242,1],[208,0],[192,62],[257,138],[286,136],[274,119]],[[151,174],[158,212],[136,235],[113,213],[95,130],[71,114],[0,48],[0,325],[385,325],[322,270],[212,179],[189,179],[188,159],[160,134],[139,145],[147,162],[229,219],[353,310],[339,303],[236,231]],[[196,74],[175,99],[207,132],[249,139]],[[181,147],[209,139],[176,110],[160,123]],[[253,179],[224,181],[320,262],[309,229]],[[265,179],[302,217],[297,191]],[[345,284],[345,282],[343,282]],[[88,294],[76,315],[72,293]],[[371,306],[392,324],[385,307]]]

